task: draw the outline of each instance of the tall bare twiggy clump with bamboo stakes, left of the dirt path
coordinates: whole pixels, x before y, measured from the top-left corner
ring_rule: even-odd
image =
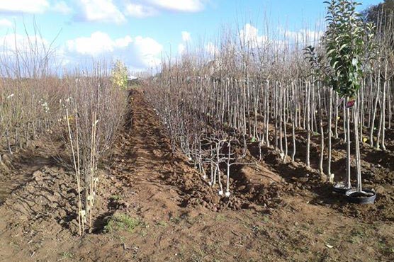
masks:
[[[67,82],[69,98],[64,107],[68,136],[64,142],[69,145],[77,181],[79,234],[84,234],[86,229],[94,230],[94,203],[101,179],[98,166],[123,123],[126,93],[102,68],[89,75],[69,75]]]

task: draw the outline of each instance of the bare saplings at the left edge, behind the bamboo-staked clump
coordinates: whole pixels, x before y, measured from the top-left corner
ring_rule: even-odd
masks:
[[[0,85],[1,150],[13,154],[52,130],[53,120],[60,118],[54,115],[60,112],[60,92],[56,91],[58,83],[54,78],[2,78]]]

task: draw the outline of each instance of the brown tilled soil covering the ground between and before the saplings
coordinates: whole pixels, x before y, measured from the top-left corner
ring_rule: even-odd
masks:
[[[375,205],[332,194],[315,169],[318,154],[307,169],[302,161],[284,164],[269,148],[259,164],[232,171],[232,195],[220,198],[171,153],[142,92],[133,91],[130,108],[99,171],[91,234],[78,237],[74,176],[48,160],[45,144],[0,169],[0,261],[394,261],[390,153],[363,149]],[[343,154],[335,151],[337,178]]]

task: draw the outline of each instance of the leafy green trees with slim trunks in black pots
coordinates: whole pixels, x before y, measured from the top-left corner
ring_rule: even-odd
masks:
[[[315,47],[305,48],[305,55],[313,72],[320,76],[326,86],[337,92],[345,101],[345,132],[347,132],[347,178],[343,183],[334,185],[334,190],[348,195],[352,202],[373,201],[376,193],[362,190],[361,161],[359,148],[359,120],[356,112],[357,95],[361,87],[368,65],[373,58],[375,46],[371,41],[374,27],[365,23],[361,14],[356,11],[359,5],[352,0],[325,1],[327,6],[327,30],[322,38],[321,54]],[[356,145],[357,185],[351,187],[350,179],[350,120],[354,122],[354,142]],[[330,174],[329,174],[330,175]]]

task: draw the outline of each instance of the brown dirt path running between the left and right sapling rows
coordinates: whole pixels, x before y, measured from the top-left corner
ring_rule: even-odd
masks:
[[[164,179],[173,171],[168,142],[140,93],[132,96],[130,106],[133,108],[130,127],[126,127],[115,150],[111,173],[132,187],[131,192],[125,193],[129,193],[129,201],[136,203],[143,218],[169,219],[179,214],[181,198],[177,188]]]

